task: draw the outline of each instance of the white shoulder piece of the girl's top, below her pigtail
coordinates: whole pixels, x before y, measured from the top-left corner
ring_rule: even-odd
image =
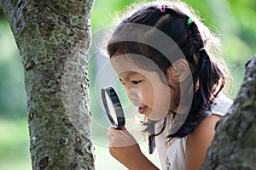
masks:
[[[232,99],[228,98],[223,93],[219,93],[211,105],[211,112],[214,115],[224,116],[229,111],[232,104]]]

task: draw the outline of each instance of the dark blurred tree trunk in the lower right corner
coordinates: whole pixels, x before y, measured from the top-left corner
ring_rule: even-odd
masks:
[[[201,169],[256,168],[256,55],[246,65],[244,82],[217,132]]]

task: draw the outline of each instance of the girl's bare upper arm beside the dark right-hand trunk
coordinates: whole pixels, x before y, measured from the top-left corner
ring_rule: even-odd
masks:
[[[199,170],[207,154],[207,148],[212,144],[215,125],[220,116],[207,116],[193,133],[188,135],[186,147],[186,170]]]

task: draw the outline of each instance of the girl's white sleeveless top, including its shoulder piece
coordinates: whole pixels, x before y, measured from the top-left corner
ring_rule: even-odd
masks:
[[[227,98],[224,94],[218,94],[216,104],[212,105],[212,114],[224,116],[232,105],[232,100]],[[164,122],[160,120],[155,124],[155,133],[160,132],[161,124]],[[168,124],[168,122],[166,122]],[[167,145],[166,136],[168,134],[166,128],[163,133],[155,137],[156,149],[158,151],[162,170],[184,170],[186,157],[186,140],[172,139],[171,143]]]

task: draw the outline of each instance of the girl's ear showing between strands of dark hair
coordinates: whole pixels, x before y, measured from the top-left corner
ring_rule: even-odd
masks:
[[[167,69],[166,74],[169,84],[183,82],[191,74],[188,61],[186,59],[178,59]]]

